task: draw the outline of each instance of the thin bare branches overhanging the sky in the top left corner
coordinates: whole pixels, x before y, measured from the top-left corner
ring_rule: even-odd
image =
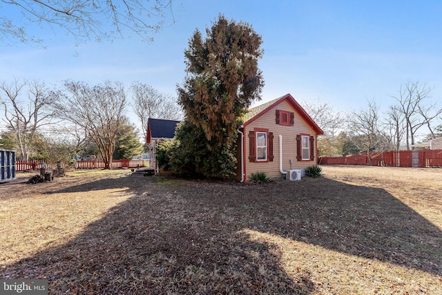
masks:
[[[0,40],[23,43],[43,40],[28,35],[30,23],[61,28],[77,41],[109,39],[131,30],[144,41],[161,30],[170,16],[172,0],[0,0]],[[13,18],[12,15],[22,15]]]

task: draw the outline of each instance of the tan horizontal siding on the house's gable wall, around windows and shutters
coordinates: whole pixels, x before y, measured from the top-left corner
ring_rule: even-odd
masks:
[[[276,110],[294,112],[294,125],[293,126],[283,126],[276,124]],[[269,129],[270,133],[273,133],[273,161],[272,162],[249,162],[249,148],[250,141],[248,138],[249,131],[254,129]],[[303,133],[313,135],[314,141],[314,160],[313,161],[297,161],[297,146],[296,146],[296,135]],[[317,149],[316,149],[316,133],[311,126],[305,122],[305,120],[300,117],[300,115],[291,107],[291,105],[282,101],[280,104],[273,106],[258,117],[256,120],[250,124],[244,124],[244,137],[245,137],[245,177],[249,179],[251,173],[256,173],[258,171],[265,171],[267,175],[271,178],[282,177],[279,169],[279,135],[282,135],[282,170],[287,171],[291,169],[301,169],[306,168],[316,164],[317,160]],[[290,166],[290,159],[293,160],[293,164]],[[240,164],[240,163],[238,163]],[[239,173],[240,174],[240,173]]]

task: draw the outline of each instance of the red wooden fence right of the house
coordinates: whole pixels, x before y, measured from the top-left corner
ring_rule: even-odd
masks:
[[[392,167],[442,167],[442,150],[384,151],[370,153],[372,166]],[[345,157],[323,157],[319,164],[329,165],[369,165],[367,153]]]

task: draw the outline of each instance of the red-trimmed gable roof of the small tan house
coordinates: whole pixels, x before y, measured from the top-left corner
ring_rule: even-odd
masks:
[[[311,129],[313,129],[317,135],[324,134],[324,131],[320,129],[320,127],[314,122],[313,119],[311,119],[311,117],[309,116],[309,114],[307,114],[305,109],[302,108],[302,106],[300,106],[298,102],[296,102],[296,100],[294,99],[293,96],[290,95],[290,93],[278,97],[277,99],[273,99],[265,104],[261,104],[260,106],[250,108],[249,112],[247,112],[247,114],[244,115],[244,126],[247,126],[251,122],[258,119],[258,117],[270,111],[271,108],[277,106],[278,104],[284,101],[288,102],[291,105],[291,107],[294,108],[294,110],[300,115],[300,117],[302,117],[303,120],[305,120],[305,122],[307,122],[307,124],[309,124]]]

